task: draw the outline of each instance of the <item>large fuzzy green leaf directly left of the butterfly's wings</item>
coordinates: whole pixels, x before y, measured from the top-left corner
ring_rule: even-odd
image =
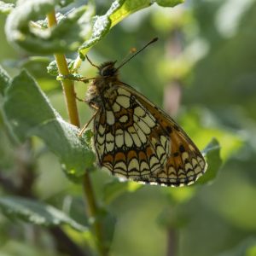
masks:
[[[60,159],[69,177],[80,177],[91,168],[95,156],[79,129],[61,119],[38,84],[25,71],[12,81],[3,102],[3,116],[18,142],[38,136]]]

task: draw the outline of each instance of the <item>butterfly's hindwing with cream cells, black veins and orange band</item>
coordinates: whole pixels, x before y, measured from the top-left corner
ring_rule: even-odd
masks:
[[[95,119],[95,148],[101,166],[113,174],[143,180],[166,164],[170,141],[128,90],[116,87]]]

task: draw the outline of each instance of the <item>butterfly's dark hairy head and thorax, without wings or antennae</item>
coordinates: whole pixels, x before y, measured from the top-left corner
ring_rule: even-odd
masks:
[[[118,81],[118,70],[114,67],[115,61],[108,61],[98,67],[98,75],[90,84],[85,102],[92,108],[101,108],[104,98],[108,97],[108,90]]]

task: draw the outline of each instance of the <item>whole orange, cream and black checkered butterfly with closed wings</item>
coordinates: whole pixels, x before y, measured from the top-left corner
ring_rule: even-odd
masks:
[[[172,187],[195,183],[207,170],[200,150],[167,113],[119,80],[119,68],[125,63],[119,67],[115,63],[96,66],[90,61],[98,75],[89,85],[85,102],[96,110],[90,121],[99,166],[142,183]]]

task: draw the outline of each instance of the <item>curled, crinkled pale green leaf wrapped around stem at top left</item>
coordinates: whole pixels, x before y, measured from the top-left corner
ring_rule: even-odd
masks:
[[[93,10],[88,6],[61,15],[57,26],[45,29],[31,22],[51,12],[58,0],[20,1],[9,15],[5,32],[9,41],[27,51],[38,54],[73,51],[79,48],[90,33]],[[44,22],[45,23],[45,22]]]

